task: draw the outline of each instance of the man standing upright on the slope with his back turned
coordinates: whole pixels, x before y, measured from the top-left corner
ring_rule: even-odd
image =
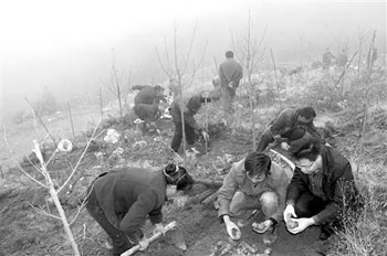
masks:
[[[233,58],[233,52],[226,52],[226,61],[219,65],[221,95],[227,114],[232,111],[232,100],[240,79],[243,77],[242,66]]]

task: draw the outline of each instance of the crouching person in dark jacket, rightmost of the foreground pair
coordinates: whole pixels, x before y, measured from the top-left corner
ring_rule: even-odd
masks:
[[[297,234],[321,225],[324,241],[341,228],[349,213],[360,209],[349,161],[331,147],[306,143],[293,153],[295,171],[286,192],[283,212],[287,230]]]

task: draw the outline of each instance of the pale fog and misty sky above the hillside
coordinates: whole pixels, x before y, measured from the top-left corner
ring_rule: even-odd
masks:
[[[253,1],[253,0],[87,0],[8,1],[1,3],[1,116],[8,120],[28,108],[24,97],[49,89],[59,102],[95,98],[108,82],[112,56],[133,84],[164,84],[158,63],[165,39],[188,47],[198,22],[194,54],[213,67],[245,34],[249,11],[252,35],[266,29],[264,45],[279,64],[306,65],[321,61],[326,47],[348,57],[364,32],[379,57],[386,53],[386,1]],[[112,51],[113,50],[113,51]],[[270,53],[269,53],[270,54]],[[270,61],[265,54],[264,61]]]

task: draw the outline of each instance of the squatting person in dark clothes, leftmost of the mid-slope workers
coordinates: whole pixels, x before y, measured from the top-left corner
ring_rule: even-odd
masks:
[[[165,109],[164,106],[159,105],[160,102],[167,102],[163,95],[164,88],[159,85],[135,85],[132,89],[139,89],[135,96],[133,109],[138,118],[145,121],[145,126],[149,126]]]

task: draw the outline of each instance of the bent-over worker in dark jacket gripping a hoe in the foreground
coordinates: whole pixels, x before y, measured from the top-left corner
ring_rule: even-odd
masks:
[[[191,183],[187,170],[172,163],[159,171],[113,169],[93,181],[88,188],[86,209],[111,237],[114,256],[119,256],[137,243],[144,250],[149,244],[140,230],[146,216],[149,215],[155,225],[154,233],[164,234],[161,206],[167,196],[190,188]]]

